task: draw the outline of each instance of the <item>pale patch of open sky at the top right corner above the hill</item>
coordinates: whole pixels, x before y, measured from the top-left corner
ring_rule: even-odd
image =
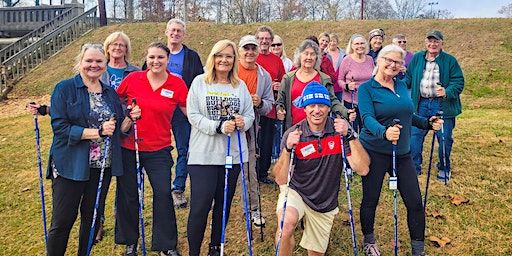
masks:
[[[491,18],[503,17],[498,10],[512,3],[512,0],[427,0],[438,3],[432,8],[448,10],[455,18]],[[429,8],[429,6],[427,6]]]

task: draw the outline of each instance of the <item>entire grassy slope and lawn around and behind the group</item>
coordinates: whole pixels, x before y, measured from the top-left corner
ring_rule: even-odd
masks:
[[[219,39],[238,42],[245,34],[252,34],[260,24],[245,26],[192,23],[188,26],[186,44],[196,49],[203,60]],[[512,19],[458,19],[412,21],[340,21],[340,22],[281,22],[269,23],[284,38],[287,53],[293,55],[296,45],[309,34],[322,31],[337,32],[340,46],[344,46],[352,33],[366,34],[381,27],[387,33],[386,43],[395,33],[408,36],[411,50],[423,48],[423,39],[432,28],[445,35],[445,50],[459,60],[466,78],[463,92],[463,113],[457,118],[454,130],[453,179],[448,186],[431,181],[426,229],[428,255],[512,255]],[[24,110],[30,100],[43,103],[61,79],[72,75],[74,57],[86,42],[102,42],[111,32],[122,30],[132,39],[132,62],[141,64],[146,45],[154,40],[165,41],[164,23],[119,24],[92,31],[63,49],[43,65],[31,72],[16,86],[11,99],[0,102],[0,256],[43,255],[44,242],[41,224],[39,183],[34,152],[34,124],[32,116]],[[40,118],[43,168],[52,132],[50,120]],[[426,144],[430,145],[431,133]],[[437,143],[436,143],[437,144]],[[424,159],[428,159],[429,146]],[[173,151],[175,154],[175,151]],[[434,155],[434,163],[437,153]],[[424,164],[426,172],[426,164]],[[435,177],[435,176],[434,176]],[[419,177],[422,193],[426,175]],[[343,181],[342,181],[343,182]],[[51,182],[45,180],[48,224],[51,219]],[[386,185],[384,185],[386,186]],[[343,186],[342,186],[343,187]],[[238,185],[240,191],[240,185]],[[187,193],[189,187],[187,188]],[[107,198],[106,236],[93,250],[93,255],[121,255],[123,247],[115,246],[113,199],[115,181]],[[254,255],[273,255],[276,230],[275,203],[278,189],[261,185],[263,211],[267,217],[265,240],[259,241],[259,229],[254,228]],[[452,196],[462,196],[469,203],[454,205]],[[151,188],[146,182],[146,205],[151,203]],[[359,246],[362,233],[359,206],[362,198],[361,179],[354,178],[352,202]],[[340,212],[335,218],[328,255],[350,255],[352,252],[350,228],[347,225],[345,191],[339,195]],[[151,207],[145,210],[146,243],[150,243]],[[179,249],[188,254],[186,221],[188,209],[176,211],[179,228]],[[78,221],[77,221],[78,223]],[[300,228],[297,229],[300,231]],[[375,233],[383,255],[392,255],[393,220],[392,193],[383,188],[377,210]],[[235,196],[227,229],[226,255],[248,255],[240,192]],[[400,255],[410,255],[406,225],[406,211],[399,200]],[[451,243],[438,247],[428,242],[430,236],[448,237]],[[67,255],[76,255],[78,225],[70,235]],[[296,241],[300,232],[296,232]],[[203,253],[209,241],[205,235]],[[361,249],[361,248],[360,248]],[[361,252],[361,251],[360,251]],[[157,255],[157,254],[149,254]],[[294,255],[306,255],[296,247]],[[362,255],[362,254],[361,254]]]

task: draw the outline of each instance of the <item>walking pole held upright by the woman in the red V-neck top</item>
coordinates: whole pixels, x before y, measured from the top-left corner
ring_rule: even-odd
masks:
[[[132,106],[137,105],[137,99],[132,99]],[[137,133],[137,120],[133,120],[133,135],[135,139],[135,164],[137,168],[137,192],[139,194],[139,224],[140,224],[140,239],[142,255],[146,256],[146,234],[144,228],[144,173],[140,168],[139,159],[139,136]]]

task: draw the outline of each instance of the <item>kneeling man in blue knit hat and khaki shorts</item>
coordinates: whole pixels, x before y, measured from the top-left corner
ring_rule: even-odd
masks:
[[[347,136],[348,123],[341,118],[333,120],[329,117],[329,92],[317,82],[308,84],[294,104],[304,109],[306,119],[283,135],[283,150],[274,168],[276,183],[281,189],[276,209],[276,245],[279,244],[276,249],[280,250],[279,255],[292,255],[295,245],[293,232],[299,220],[304,219],[300,245],[308,250],[308,255],[324,255],[334,216],[339,211],[338,191],[343,161],[340,134]],[[344,150],[350,155],[348,138],[345,141]],[[293,150],[295,167],[290,168]],[[351,162],[350,157],[349,162],[357,165]],[[287,186],[289,170],[292,173]],[[285,201],[286,207],[283,207]]]

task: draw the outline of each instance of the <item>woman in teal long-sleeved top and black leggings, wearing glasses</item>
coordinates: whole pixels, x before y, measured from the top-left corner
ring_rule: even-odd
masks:
[[[375,210],[384,175],[392,175],[392,143],[397,144],[398,190],[407,208],[412,255],[424,255],[425,215],[421,192],[410,153],[411,127],[439,130],[442,120],[413,114],[405,83],[395,80],[405,53],[396,45],[384,47],[377,56],[374,77],[359,87],[359,108],[363,129],[360,140],[371,158],[370,172],[362,177],[361,227],[365,255],[380,255],[374,235]],[[400,119],[399,125],[393,119]]]

